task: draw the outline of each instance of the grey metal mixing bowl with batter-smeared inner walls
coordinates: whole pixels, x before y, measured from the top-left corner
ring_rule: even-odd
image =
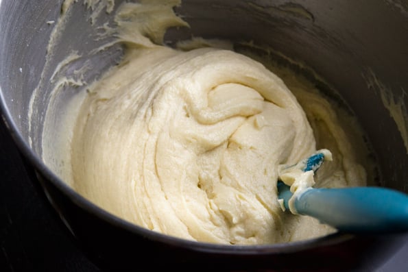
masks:
[[[106,1],[92,5],[98,8],[102,2]],[[108,8],[115,10],[122,1],[115,2]],[[60,42],[48,47],[63,3],[0,1],[1,115],[27,168],[35,173],[33,182],[40,183],[78,245],[101,268],[147,264],[229,271],[370,271],[405,243],[403,234],[344,233],[276,245],[196,243],[132,225],[75,193],[42,158],[48,104],[60,109],[51,120],[58,127],[66,101],[76,91],[64,86],[64,92],[53,97],[53,71],[75,50],[98,67],[81,75],[91,82],[115,64],[123,47],[110,47],[97,58],[90,53],[100,42],[95,39],[99,21],[88,20],[90,10],[82,1],[74,3],[69,23],[58,35]],[[169,45],[191,35],[246,40],[269,46],[282,61],[289,56],[307,64],[330,85],[317,80],[317,88],[338,90],[355,112],[379,161],[381,175],[373,182],[408,193],[405,1],[377,0],[368,5],[364,1],[184,0],[176,12],[191,28],[169,29],[165,36]],[[104,9],[98,18],[109,20],[109,16],[110,10]],[[77,65],[73,62],[59,73],[73,75]],[[309,68],[302,72],[312,74]],[[38,99],[30,105],[34,91]]]

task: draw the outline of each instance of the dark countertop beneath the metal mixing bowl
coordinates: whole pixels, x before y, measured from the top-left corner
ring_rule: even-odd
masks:
[[[82,253],[0,121],[0,271],[99,271]],[[407,243],[375,272],[408,271]],[[373,271],[374,272],[374,271]]]

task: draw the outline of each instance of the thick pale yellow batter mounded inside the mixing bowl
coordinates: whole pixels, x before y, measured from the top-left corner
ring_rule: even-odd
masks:
[[[283,212],[278,170],[327,148],[333,162],[322,166],[316,186],[365,185],[358,155],[365,151],[355,151],[352,123],[282,69],[284,83],[266,60],[160,45],[166,27],[187,23],[172,5],[155,2],[119,8],[116,34],[128,49],[88,87],[77,116],[75,190],[125,220],[189,240],[252,245],[333,232]],[[147,9],[160,16],[132,21]]]

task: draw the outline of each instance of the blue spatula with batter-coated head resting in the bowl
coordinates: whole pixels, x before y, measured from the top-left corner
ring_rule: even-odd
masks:
[[[317,171],[324,161],[315,153],[304,162],[303,171]],[[278,181],[278,199],[289,209],[290,187]],[[295,195],[292,209],[352,233],[408,231],[408,195],[382,187],[307,188]]]

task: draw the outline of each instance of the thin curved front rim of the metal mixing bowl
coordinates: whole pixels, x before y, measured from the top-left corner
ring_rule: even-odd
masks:
[[[41,160],[36,155],[32,148],[29,147],[29,144],[21,135],[18,127],[16,126],[16,123],[14,122],[14,119],[12,118],[12,114],[10,114],[10,110],[8,109],[1,84],[0,114],[2,119],[1,121],[3,121],[6,129],[12,137],[12,140],[14,141],[14,144],[16,145],[21,155],[24,156],[28,160],[29,164],[34,167],[34,171],[44,177],[47,181],[51,182],[51,184],[55,186],[60,191],[60,193],[67,197],[67,199],[69,199],[69,201],[71,201],[71,203],[73,203],[78,208],[93,214],[93,216],[97,217],[101,221],[126,230],[131,234],[143,235],[145,238],[152,241],[166,243],[193,251],[236,255],[269,255],[292,253],[296,251],[302,251],[304,249],[312,249],[315,247],[324,247],[337,243],[343,243],[351,240],[352,238],[355,238],[355,235],[353,234],[334,232],[326,236],[320,236],[306,240],[298,240],[290,243],[273,243],[263,245],[224,245],[216,243],[197,242],[193,240],[178,238],[175,236],[169,236],[167,234],[160,234],[159,232],[155,232],[153,230],[148,230],[145,227],[141,227],[139,225],[131,223],[130,221],[126,221],[125,219],[117,217],[115,214],[112,214],[107,210],[104,210],[103,208],[97,206],[95,203],[80,195],[80,193],[77,193],[73,188],[71,188],[71,186],[63,182],[60,177],[53,173],[53,171],[51,171],[51,169],[49,169],[49,167],[45,165],[43,160]],[[34,182],[34,180],[32,180],[32,182]],[[38,182],[38,180],[36,182]],[[45,190],[43,184],[41,184],[41,187],[43,188],[43,190]],[[50,199],[47,199],[47,201],[51,203],[53,209],[58,211],[58,207],[55,206],[55,203],[53,203],[53,201],[50,201]],[[63,217],[63,214],[60,214],[60,217]],[[62,222],[64,223],[64,225],[66,225],[66,227],[69,228],[69,230],[71,230],[70,225],[67,225],[69,224],[69,222],[63,219]]]

